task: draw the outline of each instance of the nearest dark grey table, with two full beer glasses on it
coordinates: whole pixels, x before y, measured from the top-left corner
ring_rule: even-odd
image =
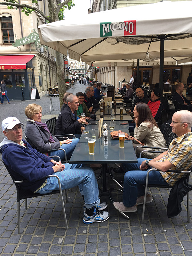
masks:
[[[89,155],[88,142],[77,143],[73,151],[70,164],[102,164],[103,176],[103,194],[107,193],[107,164],[108,163],[137,163],[137,157],[132,146],[132,142],[128,141],[124,144],[124,148],[119,148],[119,141],[109,141],[108,146],[104,146],[103,142],[95,143],[95,154]]]

